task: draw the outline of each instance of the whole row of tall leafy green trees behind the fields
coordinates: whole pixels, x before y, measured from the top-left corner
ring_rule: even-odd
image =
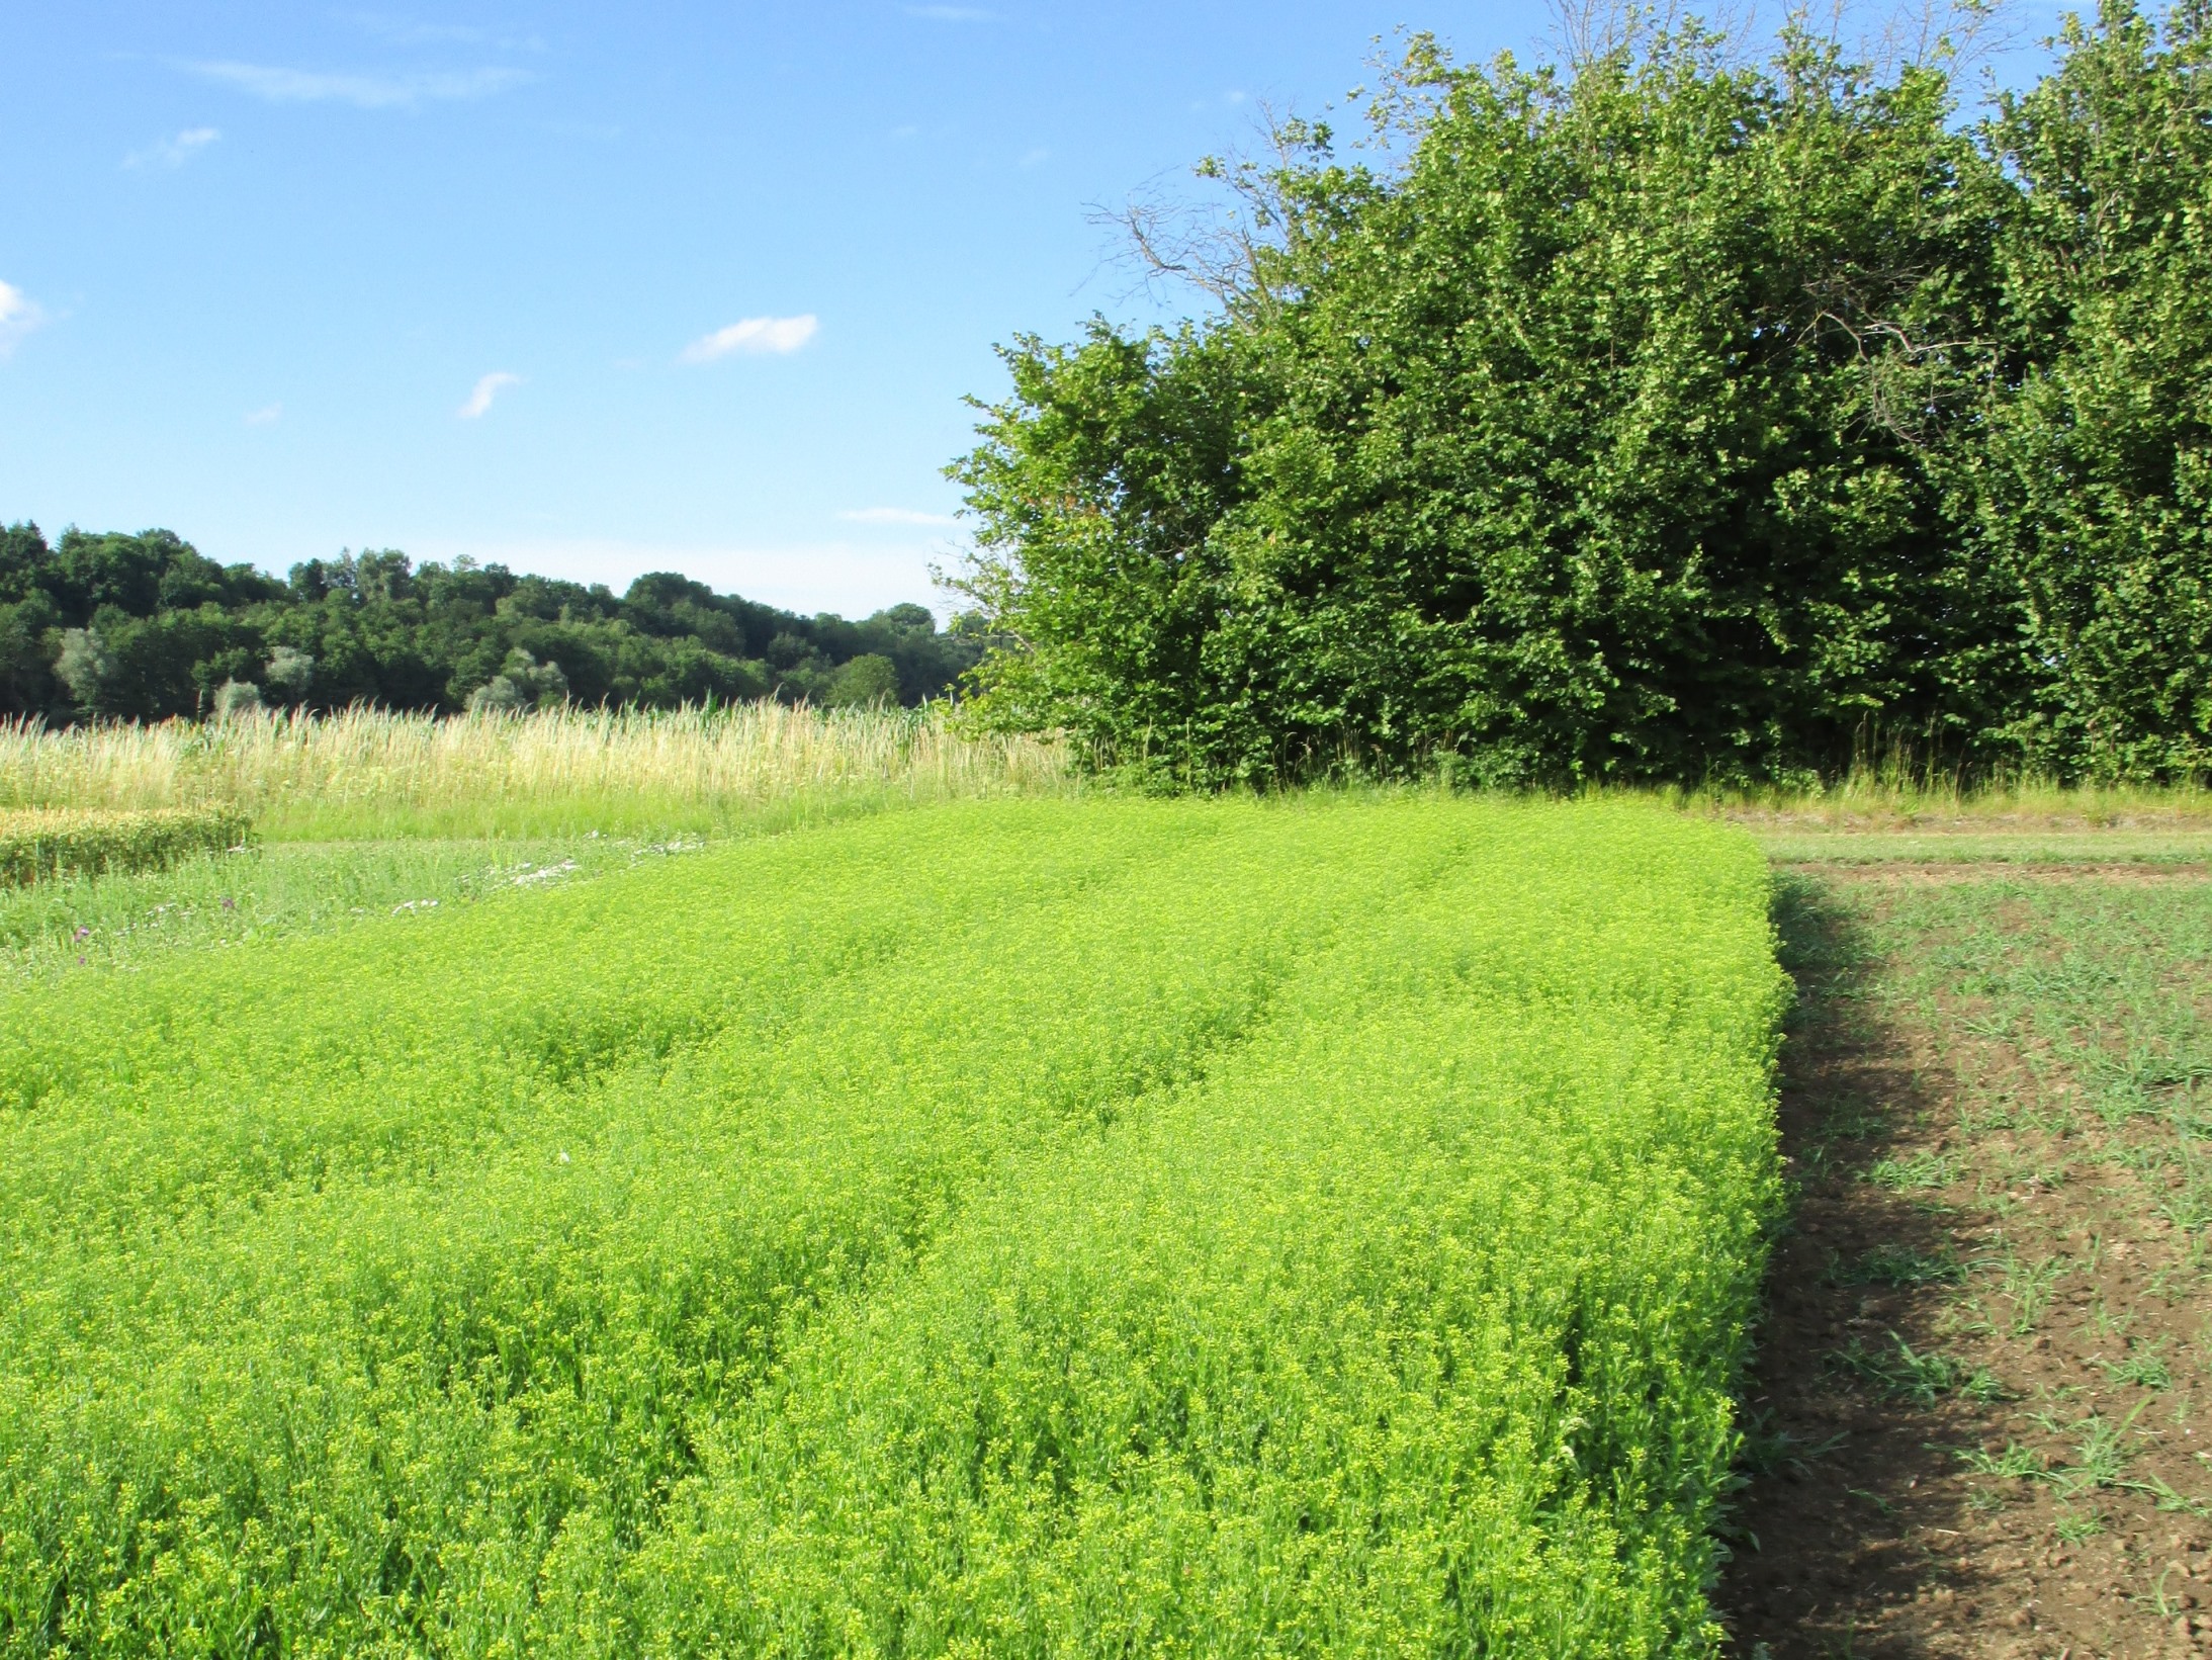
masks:
[[[1190,784],[2208,770],[2208,15],[1973,120],[1942,42],[1413,38],[1365,148],[1130,217],[1206,317],[1004,350],[975,715]]]

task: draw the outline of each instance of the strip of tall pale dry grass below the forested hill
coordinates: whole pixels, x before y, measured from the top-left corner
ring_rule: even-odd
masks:
[[[0,808],[223,806],[274,837],[712,830],[894,799],[1035,795],[1071,777],[1048,739],[964,737],[933,710],[0,724]]]

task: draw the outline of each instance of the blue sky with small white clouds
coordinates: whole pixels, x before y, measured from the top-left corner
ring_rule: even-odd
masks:
[[[1091,204],[1542,4],[0,9],[0,520],[940,602],[993,343]]]

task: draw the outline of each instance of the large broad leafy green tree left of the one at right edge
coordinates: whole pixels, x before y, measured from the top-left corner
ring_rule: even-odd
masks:
[[[984,710],[1192,779],[1776,777],[1964,726],[1929,449],[1991,294],[1942,75],[1694,31],[1409,73],[1398,177],[1316,135],[1281,181],[1340,208],[1254,255],[1267,303],[1009,356],[958,469],[1022,642]]]

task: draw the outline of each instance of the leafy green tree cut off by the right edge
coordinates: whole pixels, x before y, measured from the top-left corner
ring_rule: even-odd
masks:
[[[2212,40],[2132,7],[2068,20],[1986,146],[2020,385],[1962,458],[1980,551],[2022,620],[2008,710],[2039,766],[2212,766]]]

